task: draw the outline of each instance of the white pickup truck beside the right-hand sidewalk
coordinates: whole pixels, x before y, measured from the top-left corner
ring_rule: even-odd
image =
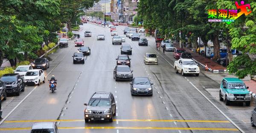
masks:
[[[181,72],[181,75],[184,76],[186,74],[195,74],[195,76],[199,76],[200,69],[192,59],[180,58],[179,60],[174,62],[175,72]]]

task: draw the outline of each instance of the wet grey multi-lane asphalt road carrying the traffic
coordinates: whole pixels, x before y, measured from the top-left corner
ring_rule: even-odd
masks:
[[[121,35],[123,28],[117,27]],[[92,37],[83,37],[85,30],[91,30]],[[133,47],[130,58],[134,77],[148,77],[154,83],[152,97],[136,97],[131,96],[129,81],[116,82],[113,79],[120,45],[112,45],[109,29],[84,24],[77,33],[91,48],[91,55],[85,57],[85,64],[73,64],[72,55],[79,48],[74,46],[74,40],[70,40],[69,47],[48,55],[50,68],[45,72],[49,74],[47,79],[51,75],[58,79],[58,90],[52,94],[48,83],[44,83],[26,86],[19,97],[10,96],[3,102],[3,116],[10,111],[12,113],[0,125],[1,133],[28,133],[33,122],[40,121],[56,121],[60,133],[239,132],[227,117],[244,132],[256,131],[248,128],[206,91],[219,88],[218,83],[202,73],[199,77],[176,74],[172,66],[175,61],[172,52],[163,54],[156,51],[154,38],[149,38],[149,46],[138,46],[137,41],[126,38],[125,43]],[[99,33],[105,34],[105,41],[96,40]],[[144,65],[145,53],[157,53],[159,64]],[[114,94],[117,113],[113,123],[84,123],[83,103],[88,103],[95,91],[111,91]]]

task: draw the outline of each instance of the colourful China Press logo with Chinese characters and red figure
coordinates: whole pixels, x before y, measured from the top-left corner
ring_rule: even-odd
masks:
[[[249,15],[252,11],[250,10],[250,4],[244,4],[244,1],[241,1],[239,6],[238,2],[235,2],[236,8],[241,11],[238,13],[237,9],[209,9],[208,10],[208,22],[226,22],[228,25],[231,22],[234,22],[241,15]],[[247,11],[247,8],[250,11]]]

